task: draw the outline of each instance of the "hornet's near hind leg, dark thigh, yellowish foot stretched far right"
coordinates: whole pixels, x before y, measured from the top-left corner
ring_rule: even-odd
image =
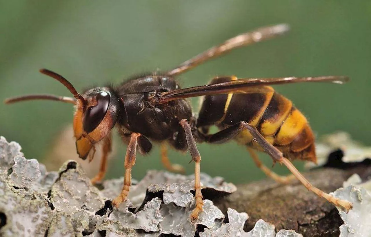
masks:
[[[285,157],[283,157],[282,152],[280,152],[276,147],[270,144],[259,131],[256,130],[255,127],[252,125],[242,121],[233,126],[226,128],[225,130],[220,131],[219,133],[207,136],[207,141],[218,143],[224,139],[228,140],[236,136],[242,130],[248,130],[250,134],[254,137],[254,141],[259,143],[259,145],[264,149],[264,151],[272,157],[273,162],[283,163],[291,173],[308,189],[311,190],[313,193],[317,194],[319,197],[325,198],[330,203],[334,204],[335,206],[345,208],[347,212],[352,208],[352,203],[342,200],[336,197],[333,197],[322,190],[314,187],[309,181],[293,166],[293,164]],[[223,138],[224,136],[224,138]],[[227,138],[226,138],[227,137]]]

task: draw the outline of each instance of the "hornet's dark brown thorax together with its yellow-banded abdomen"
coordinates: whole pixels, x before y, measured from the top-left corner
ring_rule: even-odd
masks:
[[[231,81],[234,77],[219,77],[210,84]],[[269,92],[260,92],[264,87]],[[173,77],[149,75],[131,79],[116,87],[119,103],[119,117],[116,126],[119,133],[129,137],[132,132],[141,133],[152,141],[168,141],[177,150],[188,148],[182,119],[193,120],[189,102],[186,99],[158,103],[158,95],[165,91],[180,89]],[[316,162],[314,137],[303,114],[292,102],[272,87],[258,86],[256,93],[230,93],[203,98],[193,135],[198,142],[207,142],[207,128],[217,126],[220,130],[240,121],[245,121],[257,130],[285,157]],[[175,115],[175,116],[174,116]],[[243,145],[262,151],[253,143],[249,131],[240,132],[234,139]],[[144,152],[150,151],[146,149]]]

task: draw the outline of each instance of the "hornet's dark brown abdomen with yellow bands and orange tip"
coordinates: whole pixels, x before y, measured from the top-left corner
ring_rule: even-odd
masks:
[[[227,78],[211,81],[220,83]],[[197,120],[198,127],[216,125],[223,129],[240,121],[255,126],[269,143],[277,147],[286,158],[316,162],[314,136],[305,116],[292,105],[292,101],[264,86],[264,92],[221,94],[205,96]],[[262,151],[244,130],[234,138],[238,143]]]

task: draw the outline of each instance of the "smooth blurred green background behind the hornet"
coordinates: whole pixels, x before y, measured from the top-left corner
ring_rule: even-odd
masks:
[[[351,81],[343,86],[302,83],[275,88],[308,116],[317,136],[343,130],[370,145],[370,1],[1,0],[0,99],[29,93],[70,96],[65,87],[38,72],[43,67],[62,74],[81,91],[107,82],[118,84],[143,71],[171,69],[239,33],[277,23],[288,23],[292,30],[203,64],[182,75],[181,84],[197,86],[232,74],[346,75]],[[193,104],[197,111],[197,99]],[[73,138],[60,137],[72,123],[72,113],[70,104],[54,101],[1,103],[0,135],[19,142],[27,158],[50,163],[56,146],[59,156],[76,158],[71,155]],[[126,147],[117,136],[115,147],[108,177],[124,172]],[[245,148],[233,142],[200,144],[199,149],[201,170],[212,176],[235,183],[264,177]],[[150,156],[138,155],[134,178],[140,179],[147,169],[161,169],[159,157],[158,147]],[[184,165],[188,174],[193,172],[189,154],[171,151],[170,158]],[[269,157],[264,160],[271,166]],[[274,170],[287,173],[284,167]]]

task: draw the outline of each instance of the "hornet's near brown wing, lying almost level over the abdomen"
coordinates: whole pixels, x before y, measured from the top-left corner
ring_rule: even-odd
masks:
[[[231,80],[223,83],[210,84],[204,86],[189,87],[185,89],[162,92],[159,102],[166,103],[171,100],[182,98],[214,95],[214,94],[229,94],[229,93],[257,93],[269,92],[267,85],[286,84],[296,82],[331,82],[343,84],[348,81],[348,77],[344,76],[323,76],[323,77],[278,77],[278,78],[246,78]]]

